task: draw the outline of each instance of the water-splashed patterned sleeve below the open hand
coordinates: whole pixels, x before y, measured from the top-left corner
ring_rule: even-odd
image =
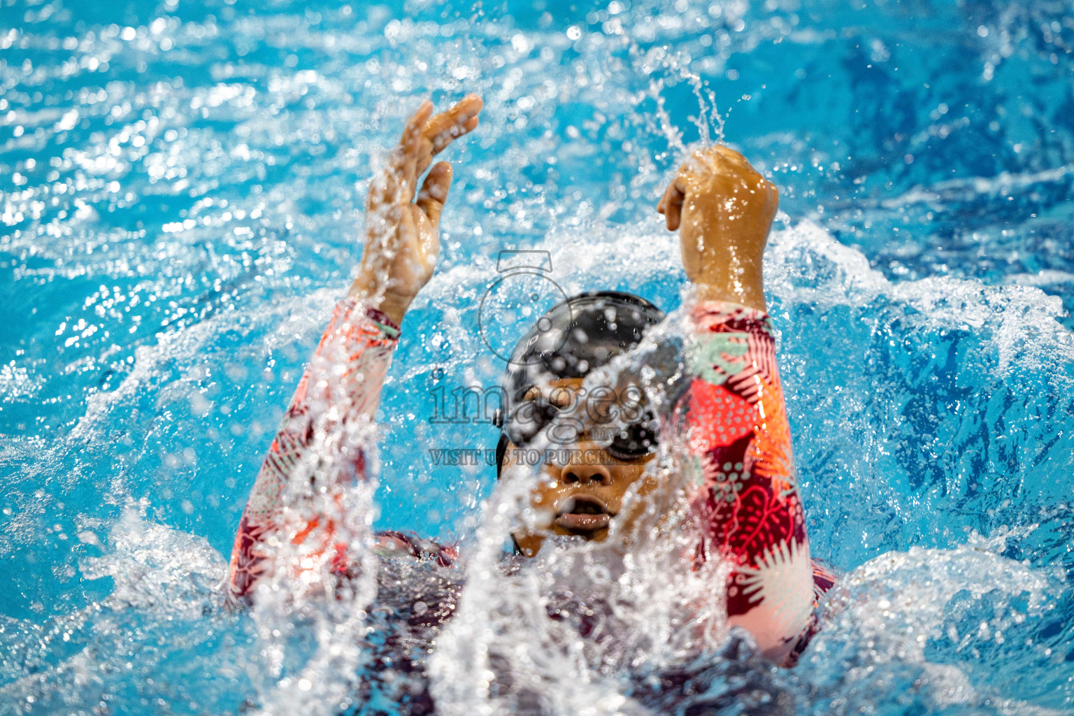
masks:
[[[372,418],[376,411],[398,335],[398,326],[381,311],[349,297],[336,304],[243,511],[231,553],[230,601],[248,602],[258,578],[270,568],[262,540],[278,526],[281,492],[289,480],[303,473],[299,466],[315,432],[331,433],[333,424],[360,415]],[[351,450],[353,454],[336,468],[338,481],[365,476],[364,454]]]

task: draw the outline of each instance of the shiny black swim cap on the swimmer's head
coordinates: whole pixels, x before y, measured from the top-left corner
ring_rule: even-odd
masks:
[[[511,351],[497,425],[506,428],[506,417],[533,385],[550,379],[584,378],[634,349],[645,328],[663,320],[659,308],[621,291],[591,291],[556,304],[537,319]],[[496,445],[497,477],[507,442],[504,433]]]

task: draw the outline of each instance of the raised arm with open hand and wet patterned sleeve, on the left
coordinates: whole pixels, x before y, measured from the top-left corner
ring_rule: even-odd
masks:
[[[436,264],[451,165],[442,161],[435,164],[420,191],[418,179],[435,155],[477,127],[481,105],[480,98],[471,94],[448,112],[433,115],[432,102],[423,102],[407,121],[383,171],[371,184],[358,277],[335,308],[243,511],[231,555],[231,603],[248,602],[259,580],[273,567],[264,543],[282,522],[281,494],[287,483],[305,474],[299,467],[315,425],[325,432],[333,422],[372,418],[376,412],[400,324]],[[353,469],[342,470],[340,481],[364,474],[361,451],[348,457]],[[321,517],[328,524],[319,525],[319,531],[322,538],[331,538],[331,518],[316,515],[291,541],[305,544],[303,540]]]

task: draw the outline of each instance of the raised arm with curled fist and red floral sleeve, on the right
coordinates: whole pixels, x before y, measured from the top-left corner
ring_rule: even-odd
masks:
[[[742,155],[714,146],[683,164],[657,210],[680,230],[696,293],[693,378],[676,406],[693,503],[713,556],[731,566],[729,623],[783,661],[809,623],[813,580],[761,275],[778,206]]]

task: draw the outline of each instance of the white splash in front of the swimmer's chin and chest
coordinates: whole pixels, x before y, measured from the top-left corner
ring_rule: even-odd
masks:
[[[713,585],[726,582],[726,566],[691,558],[699,534],[676,464],[666,450],[650,468],[663,499],[627,497],[624,511],[643,513],[629,532],[615,521],[607,542],[549,538],[536,557],[511,565],[504,539],[535,528],[537,476],[505,470],[482,511],[459,611],[430,662],[440,713],[648,713],[623,696],[625,682],[719,647],[726,609]]]

